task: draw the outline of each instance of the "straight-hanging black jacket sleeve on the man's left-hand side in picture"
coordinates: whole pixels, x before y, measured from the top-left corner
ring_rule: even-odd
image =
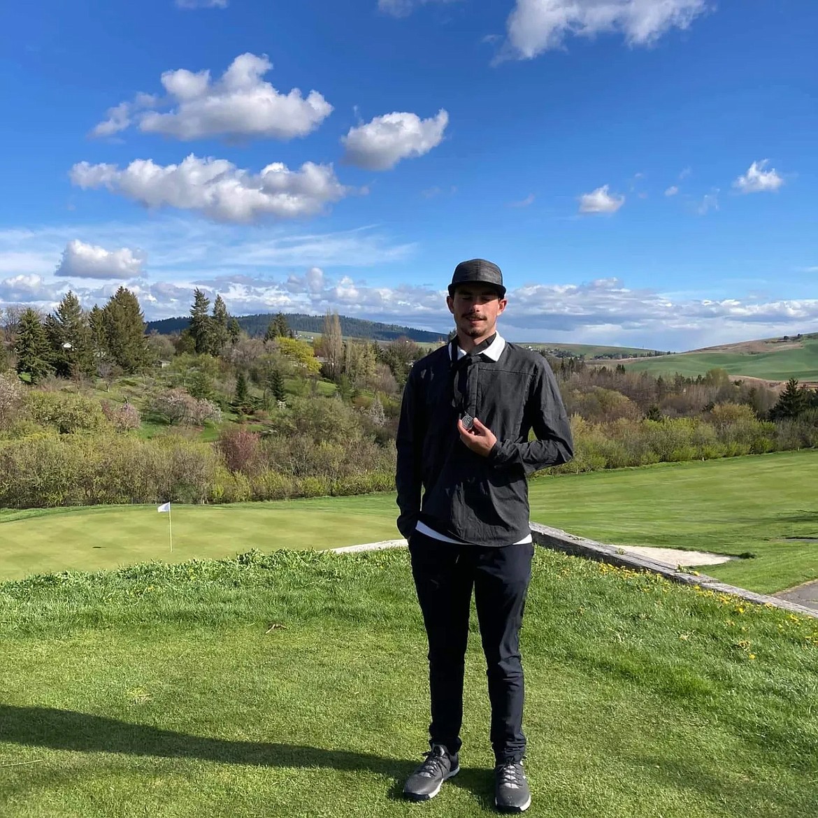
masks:
[[[414,367],[403,388],[401,416],[398,421],[398,466],[395,486],[398,488],[398,531],[404,537],[415,530],[420,514],[420,490],[423,484],[423,403],[418,399],[417,375]]]

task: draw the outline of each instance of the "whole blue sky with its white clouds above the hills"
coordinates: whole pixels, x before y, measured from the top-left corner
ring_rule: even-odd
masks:
[[[0,10],[0,308],[510,339],[818,330],[813,0],[31,0]]]

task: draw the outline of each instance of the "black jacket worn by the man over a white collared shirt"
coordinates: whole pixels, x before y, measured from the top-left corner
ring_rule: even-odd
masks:
[[[507,546],[530,533],[526,476],[573,456],[569,421],[542,355],[507,342],[497,362],[452,354],[447,344],[416,362],[403,390],[398,529],[408,537],[420,519],[463,542]],[[497,436],[488,457],[461,441],[464,412]]]

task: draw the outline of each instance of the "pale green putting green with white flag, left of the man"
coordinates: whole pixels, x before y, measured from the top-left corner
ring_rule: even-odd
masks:
[[[399,537],[387,495],[156,506],[0,510],[0,580],[30,573],[213,559],[240,551],[321,549]]]

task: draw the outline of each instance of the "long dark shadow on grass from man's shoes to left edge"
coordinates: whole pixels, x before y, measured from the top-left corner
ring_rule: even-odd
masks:
[[[395,800],[402,798],[403,782],[419,763],[303,744],[214,739],[73,710],[11,704],[0,704],[0,741],[83,753],[198,758],[222,764],[367,770],[393,780],[388,794]],[[470,790],[480,802],[488,802],[487,782],[491,780],[488,771],[464,770],[452,782]]]

